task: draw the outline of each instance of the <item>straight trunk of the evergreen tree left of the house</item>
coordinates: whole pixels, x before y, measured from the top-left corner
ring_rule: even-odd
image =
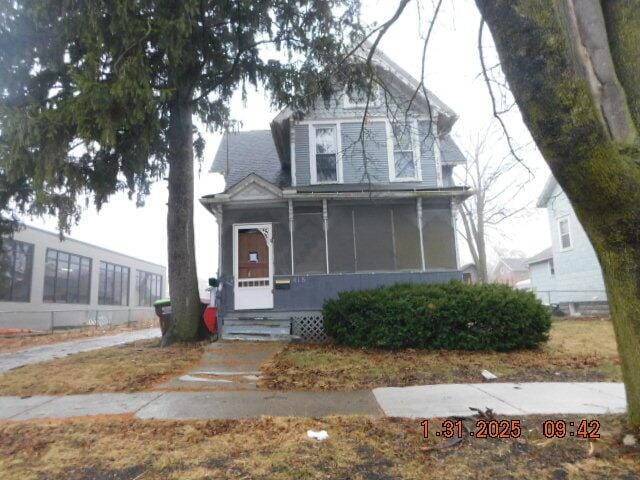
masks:
[[[186,93],[170,105],[167,238],[173,322],[163,344],[197,339],[200,298],[193,231],[193,112]]]

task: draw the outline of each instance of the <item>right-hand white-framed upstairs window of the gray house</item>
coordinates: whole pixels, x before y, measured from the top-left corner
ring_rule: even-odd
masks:
[[[421,180],[418,122],[391,122],[387,133],[389,179]]]

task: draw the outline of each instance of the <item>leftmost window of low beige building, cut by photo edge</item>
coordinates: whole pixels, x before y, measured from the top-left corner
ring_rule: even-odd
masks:
[[[0,301],[30,300],[33,248],[30,243],[3,240],[0,248]]]

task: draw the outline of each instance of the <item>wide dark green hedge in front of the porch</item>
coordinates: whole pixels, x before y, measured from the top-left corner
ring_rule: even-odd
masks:
[[[551,328],[533,293],[461,282],[342,292],[325,302],[323,316],[336,343],[381,349],[528,349]]]

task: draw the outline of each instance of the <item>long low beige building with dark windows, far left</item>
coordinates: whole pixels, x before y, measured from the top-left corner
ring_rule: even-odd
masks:
[[[26,227],[0,249],[0,328],[153,318],[166,278],[161,265]]]

